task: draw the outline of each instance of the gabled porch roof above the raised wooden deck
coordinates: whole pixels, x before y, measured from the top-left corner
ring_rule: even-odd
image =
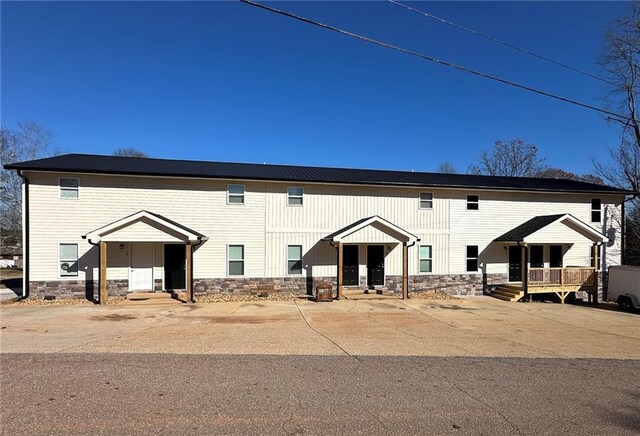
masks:
[[[558,214],[558,215],[540,215],[531,218],[529,221],[526,221],[520,224],[517,227],[509,230],[507,233],[502,236],[494,239],[495,242],[524,242],[527,243],[528,238],[531,237],[536,232],[542,230],[545,227],[553,225],[555,223],[562,223],[569,228],[577,231],[578,233],[584,235],[586,238],[590,239],[593,242],[608,242],[609,238],[607,238],[602,233],[598,232],[596,229],[591,227],[590,225],[580,221],[578,218],[574,217],[571,214]],[[558,241],[561,242],[561,241]]]

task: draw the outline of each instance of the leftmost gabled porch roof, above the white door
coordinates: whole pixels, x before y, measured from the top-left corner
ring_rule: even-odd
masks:
[[[183,242],[196,242],[206,241],[207,238],[201,233],[196,232],[180,223],[177,223],[162,215],[141,210],[134,214],[128,215],[119,220],[113,221],[98,229],[82,235],[83,239],[88,239],[92,243],[100,242],[103,239],[119,240],[118,232],[123,233],[121,242],[140,242],[143,239],[136,237],[136,232],[128,232],[125,235],[125,230],[140,230],[140,233],[145,233],[145,237],[149,237],[149,231],[155,232],[158,235],[164,235],[167,238],[183,241]],[[163,238],[162,238],[163,239]],[[154,241],[145,241],[154,242]],[[161,240],[155,242],[163,242]]]

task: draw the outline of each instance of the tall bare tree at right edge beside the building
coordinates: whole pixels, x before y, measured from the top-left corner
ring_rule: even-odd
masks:
[[[620,143],[608,150],[609,162],[593,160],[594,167],[607,183],[635,192],[640,191],[640,121],[637,101],[640,88],[640,4],[631,4],[629,13],[617,19],[605,32],[598,63],[612,85],[605,100],[612,111],[627,119],[609,117],[619,126]],[[613,85],[615,84],[615,85]],[[640,198],[631,200],[627,211],[625,261],[640,264]]]

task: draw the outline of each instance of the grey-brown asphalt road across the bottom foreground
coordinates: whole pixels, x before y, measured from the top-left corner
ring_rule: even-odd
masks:
[[[6,435],[640,432],[637,360],[86,353],[0,363]]]

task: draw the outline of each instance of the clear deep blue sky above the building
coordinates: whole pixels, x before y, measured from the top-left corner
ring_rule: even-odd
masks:
[[[387,2],[275,7],[602,106],[604,85]],[[435,15],[598,73],[624,2],[420,2]],[[2,124],[66,152],[459,171],[524,138],[577,173],[619,133],[579,107],[237,2],[2,2]]]

